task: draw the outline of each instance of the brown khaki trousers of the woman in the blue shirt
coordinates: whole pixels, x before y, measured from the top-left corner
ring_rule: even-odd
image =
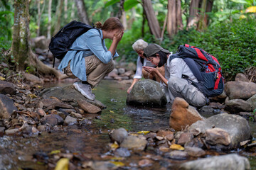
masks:
[[[114,69],[113,60],[104,64],[95,55],[85,57],[85,65],[87,82],[92,85],[92,88],[97,86],[97,84]],[[68,63],[68,67],[64,69],[64,73],[73,79],[77,78],[70,70],[70,62]]]

